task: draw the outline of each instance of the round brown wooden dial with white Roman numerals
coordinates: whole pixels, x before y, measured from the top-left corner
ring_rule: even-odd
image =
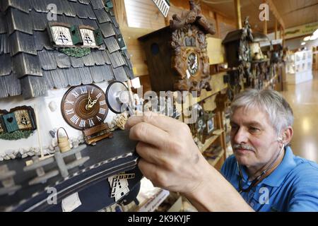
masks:
[[[83,130],[101,124],[108,112],[105,93],[97,85],[79,85],[70,88],[61,101],[66,122]]]

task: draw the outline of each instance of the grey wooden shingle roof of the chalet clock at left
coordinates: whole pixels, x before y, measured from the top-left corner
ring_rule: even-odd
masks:
[[[47,32],[49,4],[57,22],[100,29],[105,44],[85,57],[59,52]],[[52,88],[134,78],[112,9],[103,0],[0,0],[0,98],[46,95]]]

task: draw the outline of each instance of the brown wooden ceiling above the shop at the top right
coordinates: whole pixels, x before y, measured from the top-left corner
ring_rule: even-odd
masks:
[[[235,20],[234,0],[201,0],[211,6],[217,12],[228,16]],[[298,25],[304,25],[318,21],[318,0],[272,0],[285,28],[293,28]],[[208,3],[210,2],[210,3]],[[254,30],[263,30],[263,22],[259,20],[259,5],[262,0],[240,0],[242,20],[249,16],[249,22]],[[275,29],[275,16],[269,14],[267,22],[268,31],[272,32]]]

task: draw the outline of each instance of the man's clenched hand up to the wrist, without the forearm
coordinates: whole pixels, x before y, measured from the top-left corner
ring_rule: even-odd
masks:
[[[139,141],[139,168],[155,186],[194,194],[203,184],[207,164],[193,141],[189,126],[163,115],[145,112],[126,122],[129,138]]]

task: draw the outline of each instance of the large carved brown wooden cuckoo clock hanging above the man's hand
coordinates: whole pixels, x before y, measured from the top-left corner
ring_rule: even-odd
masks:
[[[170,26],[139,38],[154,91],[211,90],[206,34],[215,31],[199,4],[189,3],[190,11],[172,16]]]

